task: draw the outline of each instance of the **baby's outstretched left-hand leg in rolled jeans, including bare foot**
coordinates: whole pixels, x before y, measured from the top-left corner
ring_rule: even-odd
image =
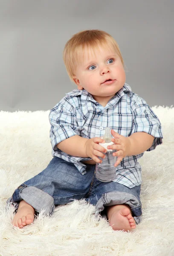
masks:
[[[13,223],[18,227],[30,224],[34,210],[44,209],[45,215],[51,215],[55,205],[84,198],[95,170],[95,165],[86,166],[87,174],[81,175],[73,163],[54,157],[44,171],[22,183],[7,200],[7,204],[13,204],[17,210]]]

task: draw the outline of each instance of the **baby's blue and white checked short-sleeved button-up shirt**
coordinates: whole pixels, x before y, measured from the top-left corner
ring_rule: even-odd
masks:
[[[86,165],[82,161],[91,158],[70,156],[56,146],[71,136],[79,135],[88,139],[101,137],[105,128],[110,127],[125,137],[135,132],[151,134],[155,139],[147,151],[162,144],[161,123],[158,117],[144,99],[131,91],[128,84],[124,84],[105,107],[96,102],[86,90],[75,89],[66,94],[49,113],[52,156],[74,163],[82,175],[87,173]],[[142,169],[137,160],[143,154],[144,152],[123,158],[116,167],[117,176],[113,181],[129,188],[140,185]]]

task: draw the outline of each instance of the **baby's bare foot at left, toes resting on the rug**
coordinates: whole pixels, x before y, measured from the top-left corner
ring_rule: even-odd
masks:
[[[31,224],[34,221],[34,214],[35,209],[31,205],[24,200],[20,201],[17,213],[12,221],[13,226],[22,228]]]

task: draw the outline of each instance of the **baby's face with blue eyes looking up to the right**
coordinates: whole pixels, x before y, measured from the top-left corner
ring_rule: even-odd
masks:
[[[111,84],[104,83],[108,79],[113,80]],[[119,55],[114,50],[102,47],[96,51],[96,55],[85,51],[83,62],[77,65],[74,76],[78,89],[84,88],[104,106],[123,87],[125,79]]]

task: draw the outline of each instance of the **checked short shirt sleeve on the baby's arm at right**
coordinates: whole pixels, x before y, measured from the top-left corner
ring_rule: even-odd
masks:
[[[136,95],[131,102],[133,112],[132,130],[129,136],[135,132],[146,132],[154,136],[153,144],[146,151],[152,151],[157,145],[162,144],[162,127],[161,123],[144,99]]]

